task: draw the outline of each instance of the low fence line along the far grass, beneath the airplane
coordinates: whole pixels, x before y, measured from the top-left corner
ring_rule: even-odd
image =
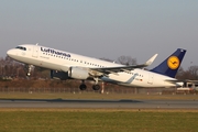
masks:
[[[95,92],[101,94],[101,90],[95,91],[92,89],[86,89],[81,91],[79,88],[12,88],[12,87],[0,87],[0,92],[28,92],[28,94],[78,94],[78,92]],[[196,92],[177,91],[176,88],[164,89],[164,88],[106,88],[103,94],[145,94],[145,95],[187,95]]]

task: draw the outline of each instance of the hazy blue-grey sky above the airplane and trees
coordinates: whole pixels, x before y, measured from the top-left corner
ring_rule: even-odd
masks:
[[[198,0],[0,0],[0,56],[24,43],[156,66],[176,48],[198,65]]]

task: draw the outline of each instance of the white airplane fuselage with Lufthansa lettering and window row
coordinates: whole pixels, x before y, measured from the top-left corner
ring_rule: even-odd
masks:
[[[69,67],[79,66],[87,68],[119,67],[120,64],[110,63],[92,57],[86,57],[74,53],[63,52],[40,45],[25,44],[21,45],[25,50],[13,48],[8,51],[12,58],[48,69],[66,72]],[[175,87],[179,84],[173,84],[165,80],[176,80],[164,75],[152,73],[144,69],[135,68],[129,72],[109,74],[100,78],[103,81],[114,82],[118,85],[132,87]]]

